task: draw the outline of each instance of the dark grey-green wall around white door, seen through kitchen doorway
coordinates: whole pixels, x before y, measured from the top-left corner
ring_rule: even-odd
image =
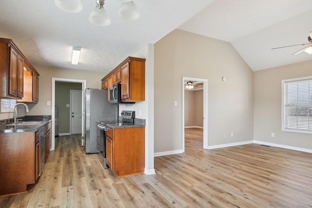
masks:
[[[59,108],[59,133],[70,132],[70,90],[80,90],[81,83],[56,82],[55,83],[55,105]]]

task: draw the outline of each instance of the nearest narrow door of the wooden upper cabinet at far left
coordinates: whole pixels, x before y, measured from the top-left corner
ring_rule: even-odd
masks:
[[[18,95],[18,53],[10,47],[9,95]]]

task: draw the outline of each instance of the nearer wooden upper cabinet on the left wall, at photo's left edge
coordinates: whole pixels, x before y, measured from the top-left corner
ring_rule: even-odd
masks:
[[[0,98],[23,98],[24,66],[27,63],[31,66],[11,39],[0,38]]]

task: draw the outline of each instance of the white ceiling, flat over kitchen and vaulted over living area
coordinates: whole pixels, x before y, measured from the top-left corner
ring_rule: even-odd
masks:
[[[10,38],[32,64],[109,72],[147,43],[175,29],[231,42],[252,70],[311,60],[292,54],[312,31],[312,0],[134,0],[140,19],[125,22],[120,2],[106,0],[112,24],[88,21],[95,0],[81,0],[83,11],[66,13],[54,0],[0,0],[0,37]],[[71,65],[73,46],[81,47]],[[218,50],[217,48],[215,50]]]

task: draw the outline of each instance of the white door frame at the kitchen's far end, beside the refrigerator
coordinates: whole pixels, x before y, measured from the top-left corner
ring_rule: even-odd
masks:
[[[81,114],[82,114],[82,119],[81,119],[81,146],[83,145],[83,135],[84,135],[84,116],[83,116],[83,109],[84,109],[84,103],[83,103],[83,92],[87,88],[87,80],[81,80],[81,79],[67,79],[67,78],[55,78],[52,77],[52,106],[55,106],[55,83],[56,82],[74,82],[74,83],[81,83]],[[55,108],[51,108],[51,117],[52,117],[52,147],[51,150],[55,150]]]

